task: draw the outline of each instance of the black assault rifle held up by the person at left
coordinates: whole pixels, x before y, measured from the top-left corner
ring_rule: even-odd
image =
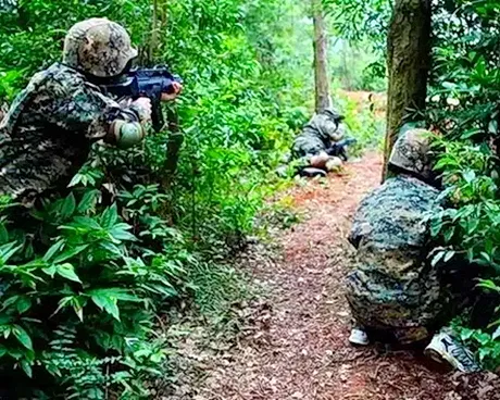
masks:
[[[152,105],[151,122],[153,129],[159,132],[165,123],[161,104],[162,93],[172,95],[174,92],[174,82],[182,84],[183,79],[177,75],[173,75],[164,66],[155,66],[152,68],[132,70],[122,75],[120,80],[101,85],[101,88],[105,93],[113,95],[118,99],[149,98]]]

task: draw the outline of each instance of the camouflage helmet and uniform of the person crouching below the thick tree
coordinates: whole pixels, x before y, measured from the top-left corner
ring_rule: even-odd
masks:
[[[440,318],[437,271],[427,260],[426,213],[439,207],[430,179],[424,132],[410,130],[390,162],[400,174],[367,196],[355,214],[350,242],[358,249],[347,299],[364,330],[401,343],[426,339]],[[413,176],[412,176],[413,175]]]

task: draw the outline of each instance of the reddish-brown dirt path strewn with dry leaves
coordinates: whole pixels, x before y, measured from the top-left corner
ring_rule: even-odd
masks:
[[[347,241],[361,199],[379,185],[382,159],[370,153],[341,175],[286,193],[303,221],[255,242],[238,267],[265,293],[239,304],[238,334],[189,322],[173,329],[176,379],[163,399],[193,400],[473,400],[497,399],[491,375],[461,376],[426,365],[418,353],[348,343],[343,276]],[[497,389],[495,389],[495,387]]]

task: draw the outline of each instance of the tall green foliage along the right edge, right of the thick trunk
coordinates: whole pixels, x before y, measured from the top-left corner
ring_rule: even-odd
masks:
[[[433,220],[433,234],[443,243],[434,262],[465,265],[458,274],[483,279],[472,310],[457,324],[484,365],[496,370],[500,367],[500,7],[496,1],[445,2],[435,14],[435,27],[426,116],[445,134],[437,148],[442,151],[437,170],[450,209]]]

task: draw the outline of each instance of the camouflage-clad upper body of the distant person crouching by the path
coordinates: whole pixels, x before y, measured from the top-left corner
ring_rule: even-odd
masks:
[[[346,134],[346,125],[338,124],[325,114],[316,114],[304,126],[293,141],[292,152],[298,158],[318,154],[332,147],[332,141],[339,141]]]

